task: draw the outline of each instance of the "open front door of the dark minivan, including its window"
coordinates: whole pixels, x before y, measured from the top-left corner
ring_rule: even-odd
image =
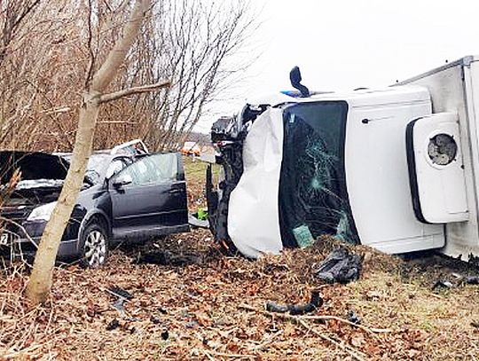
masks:
[[[179,153],[145,155],[115,175],[109,187],[114,238],[144,239],[188,229]]]

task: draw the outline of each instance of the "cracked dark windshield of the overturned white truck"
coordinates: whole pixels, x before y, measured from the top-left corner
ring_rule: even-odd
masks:
[[[300,103],[284,110],[283,161],[279,178],[279,222],[287,247],[309,229],[316,239],[335,235],[357,243],[344,172],[348,104]]]

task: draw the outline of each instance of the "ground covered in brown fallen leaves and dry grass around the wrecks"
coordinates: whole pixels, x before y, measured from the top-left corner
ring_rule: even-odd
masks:
[[[186,162],[190,207],[204,205],[204,165]],[[0,358],[72,360],[392,360],[479,358],[479,271],[438,255],[404,261],[368,247],[361,278],[326,285],[314,271],[337,247],[284,251],[252,262],[221,255],[206,230],[117,249],[106,267],[55,270],[49,302],[29,309],[24,267],[0,273]],[[149,263],[145,263],[145,262]],[[154,262],[154,263],[151,263]],[[156,264],[167,263],[167,264]],[[438,286],[437,280],[452,287]],[[132,298],[124,313],[107,289]],[[265,302],[324,303],[303,316]],[[350,311],[360,319],[351,324]]]

